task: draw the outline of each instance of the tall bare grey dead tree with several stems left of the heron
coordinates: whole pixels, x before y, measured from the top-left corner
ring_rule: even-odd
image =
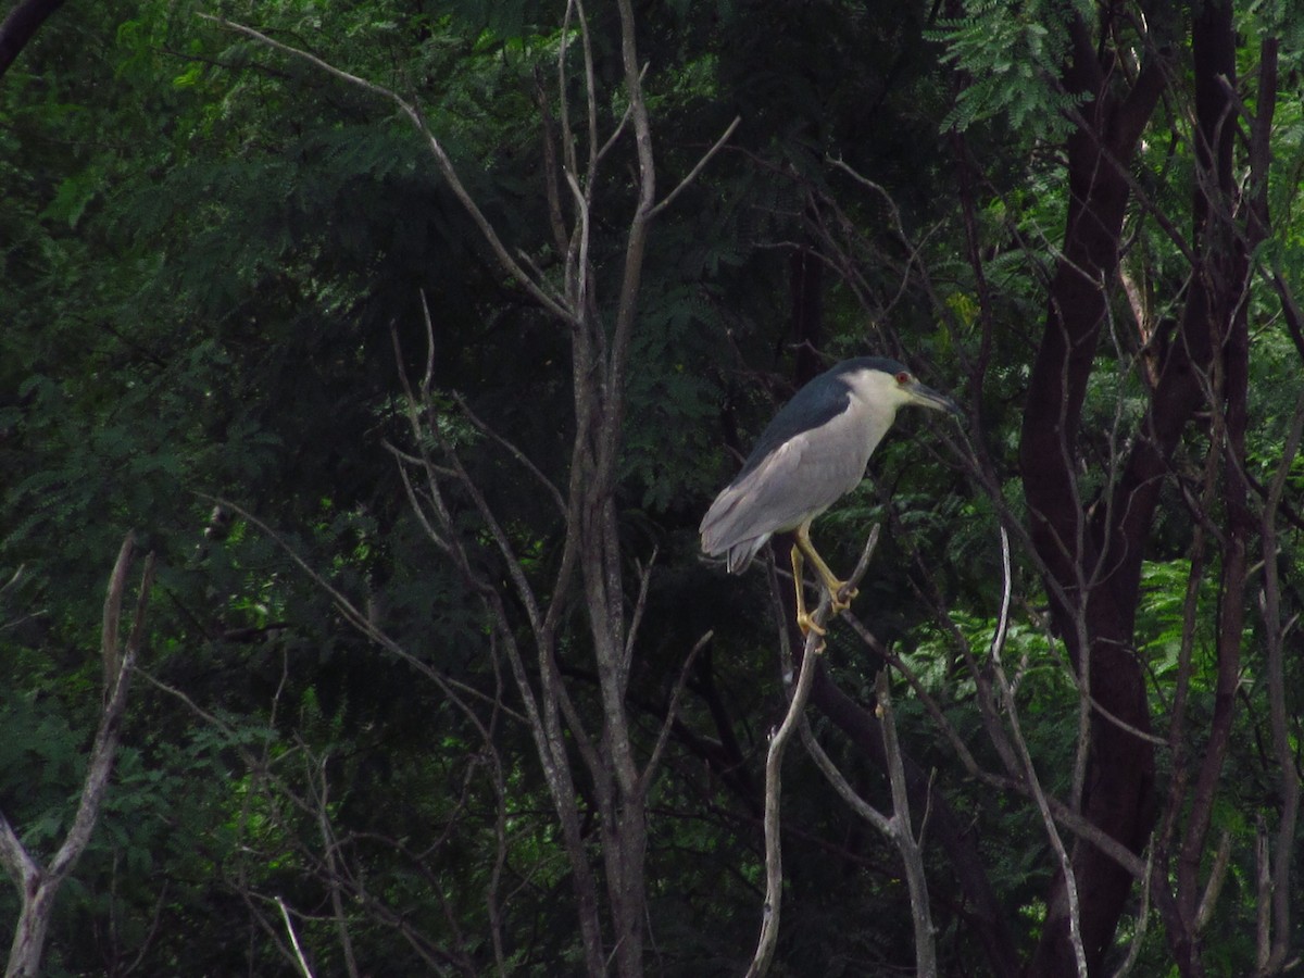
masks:
[[[640,64],[635,43],[634,5],[630,0],[618,0],[619,52],[623,68],[625,115],[605,143],[599,142],[599,110],[605,104],[599,91],[599,78],[593,67],[589,38],[589,22],[580,0],[569,0],[565,7],[561,44],[557,60],[559,121],[553,132],[545,123],[545,138],[554,136],[561,141],[558,154],[545,151],[548,177],[548,203],[553,239],[562,257],[565,271],[562,282],[549,283],[532,265],[524,263],[509,253],[497,231],[485,214],[469,197],[456,173],[438,136],[430,132],[420,108],[398,93],[360,78],[300,48],[274,40],[252,27],[233,23],[216,17],[207,20],[236,31],[258,43],[301,59],[322,72],[349,85],[357,86],[373,95],[386,99],[407,116],[424,137],[426,149],[433,155],[438,170],[458,197],[466,213],[476,224],[480,236],[493,253],[499,267],[507,276],[523,288],[536,303],[570,327],[571,372],[575,403],[575,436],[571,447],[569,485],[562,497],[559,488],[553,490],[554,501],[562,502],[566,522],[565,542],[557,562],[556,583],[550,589],[536,587],[527,569],[514,549],[512,537],[492,511],[480,486],[469,477],[462,459],[447,439],[439,437],[429,416],[432,356],[426,359],[426,376],[420,396],[412,391],[412,385],[403,378],[408,402],[408,422],[415,447],[409,452],[395,451],[403,471],[404,489],[413,511],[421,520],[436,546],[451,559],[464,583],[473,589],[481,601],[485,617],[490,622],[492,642],[507,655],[512,675],[522,694],[523,711],[531,734],[535,739],[549,792],[558,810],[562,824],[562,837],[572,868],[572,883],[576,888],[585,968],[591,974],[608,971],[606,952],[610,948],[615,970],[632,978],[642,973],[643,939],[645,922],[645,887],[643,880],[645,838],[647,838],[647,790],[651,784],[652,768],[640,769],[638,752],[634,747],[631,728],[626,709],[626,695],[630,679],[630,659],[638,622],[627,623],[627,595],[625,571],[621,559],[621,539],[618,532],[618,510],[615,505],[615,480],[619,473],[621,442],[625,426],[626,376],[630,369],[630,349],[638,323],[638,299],[643,276],[644,254],[649,227],[653,218],[698,177],[707,162],[720,150],[724,141],[734,132],[726,129],[724,137],[707,151],[694,166],[687,177],[660,203],[656,197],[656,166],[653,156],[652,126],[648,107],[644,100],[643,77],[645,65]],[[567,65],[567,46],[578,33],[583,48],[583,69]],[[574,87],[575,76],[584,86],[587,99],[588,155],[587,168],[582,171],[582,154],[576,147],[572,129],[571,107],[567,102],[569,90]],[[541,96],[541,95],[540,95]],[[578,128],[578,126],[576,126]],[[621,173],[615,181],[629,186],[636,196],[623,231],[623,256],[617,273],[617,293],[599,301],[596,276],[591,267],[591,235],[604,232],[614,226],[610,219],[600,220],[593,213],[595,194],[599,189],[599,168],[605,153],[623,141],[632,130],[636,175]],[[550,160],[550,162],[549,162]],[[566,189],[563,189],[563,186]],[[562,216],[562,197],[570,192],[572,219],[567,230]],[[605,215],[602,215],[605,218]],[[612,321],[604,321],[602,309],[612,309]],[[426,317],[428,342],[432,326]],[[430,343],[433,349],[433,343]],[[472,421],[473,422],[473,421]],[[430,442],[437,449],[432,449]],[[506,445],[511,451],[510,445]],[[439,466],[430,458],[438,454]],[[512,452],[518,462],[527,462],[519,452]],[[536,477],[537,468],[529,467]],[[408,471],[411,469],[411,472]],[[424,481],[422,481],[424,480]],[[459,494],[466,492],[471,505],[497,550],[497,558],[503,565],[506,584],[493,574],[485,572],[477,563],[479,556],[467,542],[466,536],[454,519],[452,502],[447,484],[456,480]],[[544,480],[546,484],[546,480]],[[310,569],[296,558],[304,570]],[[321,575],[313,575],[325,585]],[[583,588],[587,605],[587,623],[592,639],[592,656],[599,681],[601,703],[601,724],[585,721],[571,700],[561,681],[556,661],[558,636],[565,615],[574,608],[575,584]],[[644,582],[645,583],[645,582]],[[329,587],[329,585],[327,585]],[[364,629],[376,640],[391,651],[400,653],[395,643],[387,640],[374,626],[361,618],[356,609],[338,592],[331,591],[336,604],[356,627]],[[519,604],[528,618],[531,640],[537,651],[537,678],[531,678],[518,647],[514,631],[515,610],[509,608]],[[642,602],[640,602],[642,606]],[[451,692],[452,683],[441,677],[443,691]],[[585,729],[588,722],[589,729]],[[597,827],[601,845],[596,857],[605,868],[605,882],[609,897],[609,911],[613,926],[613,940],[605,941],[601,934],[597,883],[592,867],[595,852],[591,841],[582,836],[576,802],[576,785],[571,773],[570,752],[578,751],[588,773],[592,776],[592,794],[596,802]],[[653,760],[656,756],[653,756]]]

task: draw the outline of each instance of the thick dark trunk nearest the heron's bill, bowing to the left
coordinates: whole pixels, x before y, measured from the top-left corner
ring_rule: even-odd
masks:
[[[1148,511],[1129,512],[1125,526],[1093,526],[1078,497],[1077,442],[1086,383],[1108,314],[1108,291],[1118,282],[1129,197],[1127,167],[1163,89],[1164,72],[1151,59],[1132,90],[1119,94],[1107,46],[1098,53],[1081,22],[1073,25],[1073,37],[1065,85],[1090,94],[1091,100],[1068,142],[1064,249],[1029,383],[1020,458],[1033,541],[1047,567],[1059,634],[1078,668],[1086,666],[1095,702],[1129,726],[1149,732],[1145,677],[1132,647],[1138,574],[1131,569],[1140,569],[1153,501]],[[1153,482],[1145,486],[1154,489]],[[1153,748],[1099,713],[1090,734],[1082,811],[1110,836],[1140,852],[1153,822]],[[1097,971],[1132,876],[1088,842],[1074,846],[1073,872],[1088,966]],[[1056,879],[1048,906],[1042,941],[1028,971],[1076,974],[1063,878]]]

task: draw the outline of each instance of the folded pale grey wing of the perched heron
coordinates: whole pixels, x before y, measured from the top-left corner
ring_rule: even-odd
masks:
[[[854,426],[838,422],[802,432],[745,469],[703,518],[702,549],[728,550],[729,569],[741,570],[772,533],[822,514],[865,475],[863,443],[857,443],[863,439],[854,436]]]

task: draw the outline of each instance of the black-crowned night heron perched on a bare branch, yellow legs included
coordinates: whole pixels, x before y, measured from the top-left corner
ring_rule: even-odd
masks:
[[[841,596],[846,582],[815,552],[811,520],[859,485],[870,455],[906,404],[961,413],[896,360],[862,356],[822,373],[775,416],[742,472],[711,503],[699,528],[702,549],[726,554],[729,572],[738,574],[772,535],[797,531],[797,623],[803,632],[815,627],[802,593],[803,556],[819,571],[833,610],[845,609],[855,593]]]

